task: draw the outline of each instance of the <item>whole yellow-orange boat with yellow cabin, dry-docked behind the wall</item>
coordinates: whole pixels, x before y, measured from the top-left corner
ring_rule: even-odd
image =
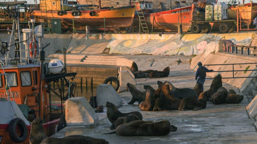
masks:
[[[73,6],[73,10],[68,10],[67,1],[65,0],[41,0],[40,10],[33,10],[31,14],[38,17],[42,15],[43,19],[61,19],[63,29],[69,30],[73,29],[73,19],[74,28],[80,30],[85,30],[86,25],[88,25],[90,29],[108,28],[110,30],[110,28],[128,28],[132,25],[135,14],[134,6],[107,9],[100,9],[101,5]]]

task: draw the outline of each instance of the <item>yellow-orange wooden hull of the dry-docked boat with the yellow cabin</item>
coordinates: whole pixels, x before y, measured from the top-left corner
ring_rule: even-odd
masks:
[[[67,11],[67,14],[59,16],[58,11],[47,11],[47,17],[50,19],[61,19],[64,28],[74,27],[78,29],[86,29],[86,25],[90,28],[113,28],[113,27],[130,27],[133,23],[135,7],[117,7],[112,9],[94,10],[95,15],[90,16],[91,11],[81,11],[80,16],[72,16],[72,11]],[[41,17],[41,11],[34,11],[33,15]],[[42,13],[42,17],[46,18],[46,13]]]

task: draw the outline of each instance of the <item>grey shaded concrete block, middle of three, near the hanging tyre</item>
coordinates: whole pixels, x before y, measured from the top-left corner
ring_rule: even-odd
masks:
[[[106,102],[111,102],[115,106],[121,106],[121,97],[110,84],[100,84],[97,86],[97,106],[105,106]]]

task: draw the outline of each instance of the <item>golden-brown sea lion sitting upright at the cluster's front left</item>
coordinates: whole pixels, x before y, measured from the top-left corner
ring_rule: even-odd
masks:
[[[144,101],[140,102],[139,108],[142,111],[152,111],[154,107],[154,98],[151,90],[146,92],[146,98]]]

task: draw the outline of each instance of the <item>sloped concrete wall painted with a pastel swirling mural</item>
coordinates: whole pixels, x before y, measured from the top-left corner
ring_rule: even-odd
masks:
[[[182,35],[112,35],[107,45],[110,54],[152,54],[152,55],[192,55],[218,51],[221,38],[226,45],[251,44],[255,33],[229,34],[185,34]]]

